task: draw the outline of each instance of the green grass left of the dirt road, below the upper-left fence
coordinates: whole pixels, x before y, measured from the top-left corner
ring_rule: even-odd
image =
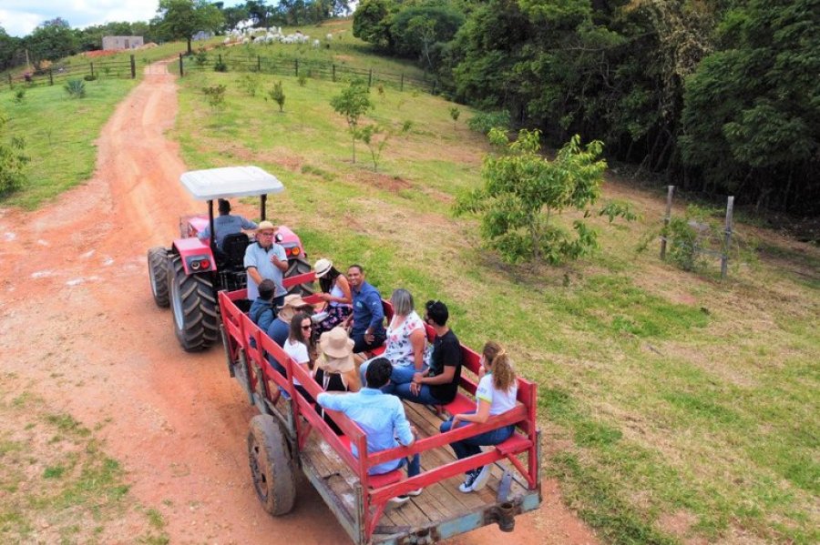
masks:
[[[27,181],[2,206],[36,208],[86,181],[97,164],[94,141],[114,108],[137,82],[100,79],[86,83],[86,97],[69,98],[62,86],[32,87],[23,104],[11,92],[0,92],[0,109],[9,117],[6,135],[22,136]]]

